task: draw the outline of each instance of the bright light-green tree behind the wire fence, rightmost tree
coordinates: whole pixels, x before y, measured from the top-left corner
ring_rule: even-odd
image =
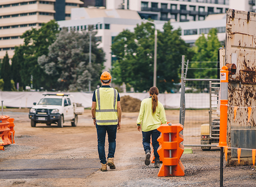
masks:
[[[207,39],[204,35],[201,35],[197,39],[195,42],[195,47],[193,48],[195,55],[192,58],[192,61],[201,63],[191,64],[191,68],[198,68],[193,71],[194,78],[217,78],[216,68],[219,47],[220,42],[218,41],[216,28],[212,28],[209,31]]]

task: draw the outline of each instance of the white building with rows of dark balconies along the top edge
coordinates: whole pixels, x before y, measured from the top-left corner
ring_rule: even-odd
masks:
[[[136,10],[142,19],[184,22],[204,20],[209,14],[225,13],[229,2],[230,0],[107,0],[106,6],[107,9]]]

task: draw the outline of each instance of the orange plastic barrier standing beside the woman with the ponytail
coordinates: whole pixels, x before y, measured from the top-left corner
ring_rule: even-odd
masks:
[[[180,144],[183,141],[183,135],[180,134],[183,126],[181,124],[162,124],[157,130],[161,132],[161,136],[157,139],[161,143],[157,152],[163,161],[158,176],[184,176],[185,168],[180,161],[184,152],[184,146]]]

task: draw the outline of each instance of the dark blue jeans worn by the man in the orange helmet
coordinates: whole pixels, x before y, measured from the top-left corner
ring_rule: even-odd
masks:
[[[106,132],[108,134],[109,140],[109,154],[107,158],[114,158],[116,151],[116,130],[117,125],[97,125],[97,137],[98,137],[98,153],[100,157],[100,162],[106,164],[106,154],[105,154],[105,138]]]

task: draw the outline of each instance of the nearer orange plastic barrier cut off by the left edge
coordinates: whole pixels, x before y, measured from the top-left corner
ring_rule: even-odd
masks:
[[[10,124],[7,119],[9,116],[0,116],[0,145],[9,145],[11,141],[9,140],[10,129],[8,125]]]

